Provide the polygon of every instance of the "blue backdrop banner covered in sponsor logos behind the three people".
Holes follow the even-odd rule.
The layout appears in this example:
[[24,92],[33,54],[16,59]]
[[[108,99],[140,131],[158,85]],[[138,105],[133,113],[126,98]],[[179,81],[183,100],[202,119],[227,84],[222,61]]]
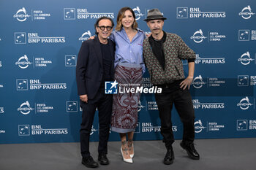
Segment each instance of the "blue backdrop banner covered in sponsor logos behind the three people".
[[[256,137],[256,1],[1,0],[0,143],[78,142],[81,122],[75,66],[97,18],[116,23],[131,7],[139,28],[159,8],[164,30],[195,50],[191,85],[196,139]],[[184,61],[187,74],[187,61]],[[143,86],[150,87],[148,72]],[[142,93],[135,140],[162,139],[154,95]],[[182,124],[172,112],[176,139]],[[91,141],[99,140],[98,115]],[[110,132],[110,141],[119,140]]]

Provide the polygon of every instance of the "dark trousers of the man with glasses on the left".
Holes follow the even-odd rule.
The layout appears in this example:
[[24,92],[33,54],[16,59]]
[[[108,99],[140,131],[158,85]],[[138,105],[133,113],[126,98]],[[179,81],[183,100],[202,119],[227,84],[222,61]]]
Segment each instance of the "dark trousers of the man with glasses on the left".
[[108,136],[110,131],[110,120],[112,114],[113,96],[105,94],[104,88],[99,88],[97,95],[88,100],[88,103],[80,101],[83,109],[82,123],[80,128],[80,150],[83,158],[89,157],[89,140],[91,126],[94,122],[96,109],[99,111],[99,154],[108,153]]

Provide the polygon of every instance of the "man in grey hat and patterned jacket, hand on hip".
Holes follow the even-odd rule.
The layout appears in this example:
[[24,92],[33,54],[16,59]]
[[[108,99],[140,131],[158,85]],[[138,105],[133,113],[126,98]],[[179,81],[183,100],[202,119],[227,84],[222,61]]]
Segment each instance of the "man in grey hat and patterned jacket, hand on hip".
[[[189,86],[192,83],[195,70],[195,52],[191,50],[176,34],[162,30],[164,26],[162,12],[159,9],[148,11],[146,22],[151,30],[151,36],[143,41],[143,57],[151,77],[151,83],[162,88],[162,93],[155,93],[159,117],[161,120],[161,134],[167,152],[165,164],[174,160],[172,144],[174,142],[171,109],[173,104],[183,123],[184,133],[181,147],[187,151],[189,158],[198,160],[199,154],[194,147],[195,113]],[[188,77],[185,78],[181,60],[187,60],[189,66]]]

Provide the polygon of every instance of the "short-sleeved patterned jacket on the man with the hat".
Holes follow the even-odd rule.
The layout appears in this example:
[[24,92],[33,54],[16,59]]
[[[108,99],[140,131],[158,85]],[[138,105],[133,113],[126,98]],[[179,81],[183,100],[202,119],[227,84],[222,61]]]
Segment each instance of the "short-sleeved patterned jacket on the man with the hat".
[[175,80],[184,79],[184,69],[181,59],[195,58],[195,52],[185,44],[180,36],[171,33],[166,34],[166,41],[163,44],[165,70],[162,69],[162,66],[154,55],[151,45],[148,42],[148,37],[143,41],[143,58],[153,85],[163,85]]

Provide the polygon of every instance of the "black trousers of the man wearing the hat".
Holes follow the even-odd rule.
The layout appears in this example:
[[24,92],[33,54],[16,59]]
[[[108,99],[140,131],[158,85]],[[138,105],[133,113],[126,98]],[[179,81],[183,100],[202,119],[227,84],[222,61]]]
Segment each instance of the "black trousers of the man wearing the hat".
[[189,144],[195,139],[195,112],[192,105],[192,98],[188,89],[179,88],[179,82],[170,85],[157,85],[162,88],[162,93],[156,93],[155,98],[159,109],[161,120],[161,134],[165,145],[173,144],[173,129],[171,121],[171,110],[173,104],[176,107],[181,122],[183,123],[182,142]]

